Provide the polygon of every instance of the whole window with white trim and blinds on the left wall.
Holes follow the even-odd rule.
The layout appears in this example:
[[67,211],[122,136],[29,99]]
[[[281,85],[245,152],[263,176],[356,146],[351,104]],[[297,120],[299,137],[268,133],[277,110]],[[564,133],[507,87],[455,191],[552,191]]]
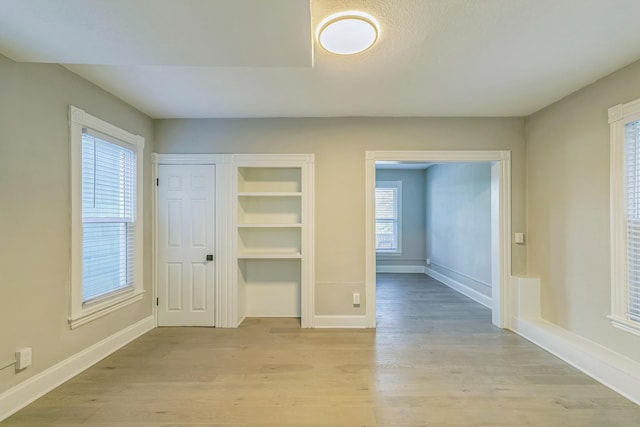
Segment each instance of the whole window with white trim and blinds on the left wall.
[[71,107],[72,328],[142,298],[142,150]]

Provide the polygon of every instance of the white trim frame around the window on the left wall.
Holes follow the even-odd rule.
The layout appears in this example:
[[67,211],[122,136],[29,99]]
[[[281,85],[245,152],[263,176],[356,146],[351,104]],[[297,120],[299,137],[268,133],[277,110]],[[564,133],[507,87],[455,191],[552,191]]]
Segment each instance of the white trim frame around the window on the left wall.
[[[140,301],[143,289],[143,150],[144,138],[134,135],[85,111],[69,106],[71,136],[71,304],[69,326],[74,329]],[[133,288],[82,302],[82,129],[89,128],[129,144],[136,152],[135,281]]]

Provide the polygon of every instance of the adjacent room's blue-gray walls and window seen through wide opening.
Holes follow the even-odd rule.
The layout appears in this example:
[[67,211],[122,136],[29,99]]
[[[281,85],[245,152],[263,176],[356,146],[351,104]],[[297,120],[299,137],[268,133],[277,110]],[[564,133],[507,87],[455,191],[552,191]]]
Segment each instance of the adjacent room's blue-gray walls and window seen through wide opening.
[[386,282],[403,280],[394,274],[427,274],[491,309],[500,258],[492,245],[500,219],[492,210],[498,195],[491,167],[376,162],[376,272],[387,273]]

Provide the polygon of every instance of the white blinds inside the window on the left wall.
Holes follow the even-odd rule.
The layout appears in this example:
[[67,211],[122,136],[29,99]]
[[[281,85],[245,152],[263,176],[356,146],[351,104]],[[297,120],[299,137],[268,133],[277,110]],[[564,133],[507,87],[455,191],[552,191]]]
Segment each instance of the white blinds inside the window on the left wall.
[[82,132],[82,302],[134,286],[136,152]]

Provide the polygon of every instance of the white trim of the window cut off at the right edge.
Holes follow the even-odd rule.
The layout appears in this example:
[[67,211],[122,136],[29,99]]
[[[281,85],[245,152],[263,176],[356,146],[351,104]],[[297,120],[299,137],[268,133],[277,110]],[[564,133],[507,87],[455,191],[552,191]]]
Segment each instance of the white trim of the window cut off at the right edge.
[[611,197],[611,314],[614,327],[640,335],[640,322],[627,314],[625,232],[625,126],[640,120],[640,99],[609,109],[610,125],[610,197]]

